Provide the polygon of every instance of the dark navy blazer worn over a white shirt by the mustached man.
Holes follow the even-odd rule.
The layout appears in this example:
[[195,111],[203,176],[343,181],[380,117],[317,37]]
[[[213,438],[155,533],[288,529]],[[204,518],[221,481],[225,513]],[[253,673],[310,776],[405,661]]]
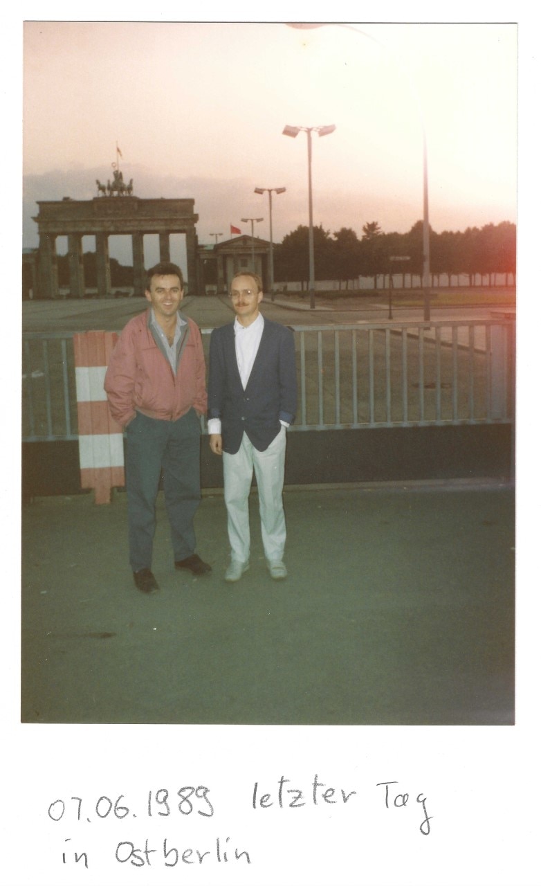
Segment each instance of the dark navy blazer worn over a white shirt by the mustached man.
[[263,452],[291,424],[297,409],[297,369],[293,333],[264,320],[258,353],[243,388],[236,363],[234,323],[213,330],[209,354],[208,417],[221,419],[221,445],[235,455],[246,431]]

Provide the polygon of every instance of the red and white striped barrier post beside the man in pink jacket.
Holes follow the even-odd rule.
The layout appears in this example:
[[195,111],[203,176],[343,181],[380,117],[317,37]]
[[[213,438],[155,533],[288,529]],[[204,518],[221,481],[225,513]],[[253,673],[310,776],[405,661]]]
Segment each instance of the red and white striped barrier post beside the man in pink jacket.
[[79,421],[81,486],[94,489],[96,504],[111,501],[112,486],[124,486],[124,444],[120,424],[109,412],[104,377],[116,332],[78,332],[73,336]]

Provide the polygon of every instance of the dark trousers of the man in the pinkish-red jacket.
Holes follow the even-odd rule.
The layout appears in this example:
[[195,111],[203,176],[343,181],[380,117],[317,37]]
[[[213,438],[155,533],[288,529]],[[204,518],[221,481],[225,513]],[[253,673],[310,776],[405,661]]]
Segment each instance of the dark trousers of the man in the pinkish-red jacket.
[[134,572],[151,569],[156,499],[163,471],[166,512],[174,560],[193,554],[193,521],[199,501],[201,425],[195,409],[176,422],[138,412],[126,430],[129,563]]

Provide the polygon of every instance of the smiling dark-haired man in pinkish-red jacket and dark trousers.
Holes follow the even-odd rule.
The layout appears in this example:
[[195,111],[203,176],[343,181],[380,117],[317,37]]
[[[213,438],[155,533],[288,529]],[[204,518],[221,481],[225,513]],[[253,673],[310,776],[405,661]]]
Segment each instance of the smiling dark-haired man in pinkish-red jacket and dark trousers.
[[195,553],[193,525],[201,500],[205,356],[197,324],[179,311],[183,295],[180,268],[151,268],[150,307],[122,330],[104,381],[112,417],[126,429],[129,562],[144,594],[158,591],[151,561],[162,472],[174,566],[194,575],[211,571]]

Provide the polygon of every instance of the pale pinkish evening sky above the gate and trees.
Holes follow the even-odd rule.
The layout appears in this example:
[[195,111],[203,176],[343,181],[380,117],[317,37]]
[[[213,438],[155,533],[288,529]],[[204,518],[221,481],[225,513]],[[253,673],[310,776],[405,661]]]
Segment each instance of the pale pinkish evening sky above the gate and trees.
[[[195,199],[200,244],[249,234],[243,217],[267,239],[254,188],[285,187],[280,242],[308,223],[307,135],[286,124],[336,126],[311,136],[313,222],[331,234],[421,219],[423,131],[433,229],[516,221],[516,89],[513,23],[27,20],[23,245],[35,201],[97,196],[117,145],[135,196]],[[113,238],[113,257],[126,249]]]

